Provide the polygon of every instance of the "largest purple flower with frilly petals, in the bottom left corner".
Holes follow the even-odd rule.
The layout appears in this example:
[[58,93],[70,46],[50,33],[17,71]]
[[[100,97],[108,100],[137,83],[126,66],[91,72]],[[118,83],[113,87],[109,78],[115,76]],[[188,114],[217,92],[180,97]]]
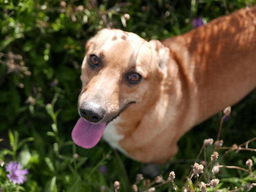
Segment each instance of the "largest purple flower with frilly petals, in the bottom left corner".
[[10,161],[7,163],[5,170],[9,172],[7,177],[14,184],[24,183],[24,181],[26,181],[25,175],[29,173],[27,169],[21,170],[20,163],[17,163],[16,161]]

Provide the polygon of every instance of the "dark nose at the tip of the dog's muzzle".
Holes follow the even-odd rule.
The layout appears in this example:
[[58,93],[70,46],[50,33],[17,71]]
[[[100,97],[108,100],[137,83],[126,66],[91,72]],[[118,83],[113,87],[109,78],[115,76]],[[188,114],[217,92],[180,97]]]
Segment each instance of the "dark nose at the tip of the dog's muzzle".
[[92,123],[98,123],[106,114],[106,111],[99,104],[93,102],[83,102],[79,111],[83,118]]

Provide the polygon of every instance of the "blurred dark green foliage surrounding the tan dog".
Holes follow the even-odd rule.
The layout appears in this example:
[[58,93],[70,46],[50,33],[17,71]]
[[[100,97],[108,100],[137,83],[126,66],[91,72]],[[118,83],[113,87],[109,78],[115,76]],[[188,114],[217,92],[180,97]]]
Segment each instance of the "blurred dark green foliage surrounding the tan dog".
[[[147,40],[161,40],[193,29],[195,18],[209,22],[254,4],[255,0],[0,0],[0,138],[4,138],[0,158],[23,159],[29,176],[20,190],[113,191],[112,183],[118,180],[121,191],[131,191],[136,174],[145,166],[103,141],[90,150],[71,141],[79,118],[77,98],[85,42],[98,30],[118,28]],[[124,14],[130,18],[125,20]],[[179,142],[178,154],[160,172],[168,175],[174,170],[177,184],[183,186],[203,140],[216,139],[221,116],[220,112],[187,133]],[[19,141],[29,137],[34,141],[23,142],[13,151],[19,142],[9,141],[12,134]],[[232,108],[221,138],[225,146],[231,146],[254,136],[256,91]],[[250,147],[256,148],[256,144]],[[221,161],[244,166],[253,155],[234,152]],[[231,176],[243,175],[223,171],[220,179]],[[0,184],[5,177],[2,170]]]

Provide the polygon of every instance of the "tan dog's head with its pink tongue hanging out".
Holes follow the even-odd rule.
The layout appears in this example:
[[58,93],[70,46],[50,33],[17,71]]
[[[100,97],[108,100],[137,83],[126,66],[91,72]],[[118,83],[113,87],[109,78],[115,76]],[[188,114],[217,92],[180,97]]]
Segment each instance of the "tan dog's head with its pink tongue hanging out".
[[78,102],[82,118],[72,138],[90,148],[99,142],[106,124],[130,105],[154,99],[166,74],[169,49],[118,29],[99,31],[85,47]]

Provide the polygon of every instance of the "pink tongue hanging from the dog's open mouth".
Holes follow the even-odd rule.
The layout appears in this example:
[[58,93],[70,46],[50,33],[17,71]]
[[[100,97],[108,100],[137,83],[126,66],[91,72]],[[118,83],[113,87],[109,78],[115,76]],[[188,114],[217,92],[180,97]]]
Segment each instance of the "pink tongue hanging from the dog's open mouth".
[[106,123],[92,124],[80,117],[72,131],[72,139],[80,147],[92,148],[101,139],[105,127]]

